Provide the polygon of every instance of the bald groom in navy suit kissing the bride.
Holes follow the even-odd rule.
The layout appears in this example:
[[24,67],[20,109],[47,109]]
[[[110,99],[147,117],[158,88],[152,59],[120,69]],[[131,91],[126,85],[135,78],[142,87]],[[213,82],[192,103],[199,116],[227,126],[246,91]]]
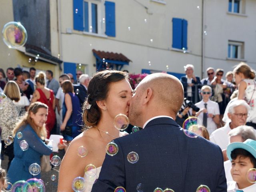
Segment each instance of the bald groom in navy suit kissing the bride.
[[[174,121],[183,94],[181,82],[169,74],[151,74],[140,82],[130,101],[129,119],[143,130],[114,140],[119,151],[106,154],[92,192],[114,192],[116,187],[134,192],[137,186],[144,192],[195,192],[201,184],[212,192],[226,192],[220,148],[202,137],[186,136]],[[130,152],[138,154],[138,162],[127,160]]]

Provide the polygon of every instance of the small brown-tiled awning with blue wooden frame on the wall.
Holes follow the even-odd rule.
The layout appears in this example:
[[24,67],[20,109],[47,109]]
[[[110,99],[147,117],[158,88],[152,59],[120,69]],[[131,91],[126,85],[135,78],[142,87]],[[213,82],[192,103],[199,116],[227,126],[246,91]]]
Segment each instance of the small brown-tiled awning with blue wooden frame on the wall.
[[122,53],[96,51],[95,49],[93,49],[92,52],[96,58],[97,70],[114,68],[114,65],[116,66],[116,70],[121,70],[124,65],[129,65],[131,61]]

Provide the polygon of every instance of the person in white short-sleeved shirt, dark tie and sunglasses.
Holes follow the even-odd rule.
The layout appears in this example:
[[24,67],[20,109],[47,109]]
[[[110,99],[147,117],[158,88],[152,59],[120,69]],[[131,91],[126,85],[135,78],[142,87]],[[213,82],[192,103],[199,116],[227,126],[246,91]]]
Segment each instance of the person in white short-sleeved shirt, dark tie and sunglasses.
[[218,103],[211,101],[212,88],[205,85],[201,88],[202,101],[195,105],[200,108],[196,116],[202,121],[207,128],[209,135],[217,129],[217,124],[220,122],[220,109]]

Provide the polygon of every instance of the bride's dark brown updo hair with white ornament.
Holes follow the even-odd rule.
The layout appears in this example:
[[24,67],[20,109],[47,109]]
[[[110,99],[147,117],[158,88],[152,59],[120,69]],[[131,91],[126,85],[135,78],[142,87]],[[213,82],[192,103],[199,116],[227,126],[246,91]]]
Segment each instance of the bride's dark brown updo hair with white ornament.
[[94,74],[88,85],[88,98],[83,106],[83,120],[86,128],[98,124],[101,110],[96,101],[105,100],[108,97],[110,84],[123,79],[128,80],[128,74],[116,70],[104,70]]

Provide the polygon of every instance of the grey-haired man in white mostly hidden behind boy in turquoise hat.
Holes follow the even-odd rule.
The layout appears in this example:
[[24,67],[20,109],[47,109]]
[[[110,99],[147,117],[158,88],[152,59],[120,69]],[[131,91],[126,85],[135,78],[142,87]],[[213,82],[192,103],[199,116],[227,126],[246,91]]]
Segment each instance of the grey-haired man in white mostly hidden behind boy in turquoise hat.
[[[233,142],[244,142],[247,139],[256,140],[256,134],[254,128],[246,125],[238,126],[237,128],[232,129],[228,133],[229,137],[229,144]],[[230,173],[231,169],[231,161],[228,160],[226,150],[222,150],[223,156],[224,156],[224,168],[225,168],[225,174],[227,182],[232,181],[232,176]]]

